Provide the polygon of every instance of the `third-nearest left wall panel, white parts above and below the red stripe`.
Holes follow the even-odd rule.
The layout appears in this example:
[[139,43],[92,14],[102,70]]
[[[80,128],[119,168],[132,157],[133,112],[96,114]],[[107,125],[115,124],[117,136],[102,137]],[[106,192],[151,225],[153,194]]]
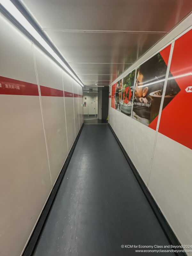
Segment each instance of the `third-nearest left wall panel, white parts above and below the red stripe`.
[[[63,88],[65,92],[73,94],[72,79],[65,72],[63,72]],[[65,97],[65,114],[67,123],[68,150],[70,150],[76,137],[73,97]]]

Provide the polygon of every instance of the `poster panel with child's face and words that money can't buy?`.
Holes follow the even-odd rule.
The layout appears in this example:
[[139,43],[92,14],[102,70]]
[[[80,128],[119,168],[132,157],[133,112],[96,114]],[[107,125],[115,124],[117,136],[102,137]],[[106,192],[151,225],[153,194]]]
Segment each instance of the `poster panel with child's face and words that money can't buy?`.
[[[132,118],[156,130],[171,45],[137,68]],[[173,87],[180,89],[176,83]],[[170,99],[171,100],[171,99]],[[168,103],[168,102],[167,102]]]

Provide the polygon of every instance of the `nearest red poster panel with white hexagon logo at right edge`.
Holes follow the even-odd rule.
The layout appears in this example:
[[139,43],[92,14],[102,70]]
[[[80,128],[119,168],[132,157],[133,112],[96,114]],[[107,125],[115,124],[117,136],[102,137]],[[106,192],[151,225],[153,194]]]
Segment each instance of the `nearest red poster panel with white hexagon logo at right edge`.
[[180,90],[162,110],[158,132],[192,149],[192,29],[175,41],[170,73],[165,95],[176,93],[172,80]]

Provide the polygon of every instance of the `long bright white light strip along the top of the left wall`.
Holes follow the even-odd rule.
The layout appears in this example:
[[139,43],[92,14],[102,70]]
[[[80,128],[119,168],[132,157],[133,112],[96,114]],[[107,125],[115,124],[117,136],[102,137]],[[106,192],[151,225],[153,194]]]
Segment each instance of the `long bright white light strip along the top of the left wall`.
[[[18,1],[17,1],[18,2]],[[10,0],[0,0],[0,11],[12,21],[24,34],[26,34],[35,44],[41,46],[40,48],[51,55],[52,59],[57,62],[77,83],[84,86],[81,80],[74,74],[74,71],[64,63],[52,47],[45,41],[45,39],[38,33],[38,31],[31,25],[26,17],[17,9],[15,4]]]

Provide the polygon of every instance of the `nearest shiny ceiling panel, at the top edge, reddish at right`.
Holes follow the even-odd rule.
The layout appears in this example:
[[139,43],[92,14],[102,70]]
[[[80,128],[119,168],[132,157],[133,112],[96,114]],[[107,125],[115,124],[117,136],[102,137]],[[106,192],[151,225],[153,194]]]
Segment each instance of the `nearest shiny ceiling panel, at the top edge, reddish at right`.
[[23,0],[42,28],[169,31],[189,0]]

